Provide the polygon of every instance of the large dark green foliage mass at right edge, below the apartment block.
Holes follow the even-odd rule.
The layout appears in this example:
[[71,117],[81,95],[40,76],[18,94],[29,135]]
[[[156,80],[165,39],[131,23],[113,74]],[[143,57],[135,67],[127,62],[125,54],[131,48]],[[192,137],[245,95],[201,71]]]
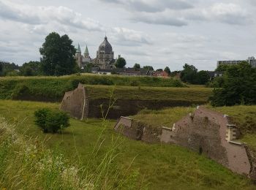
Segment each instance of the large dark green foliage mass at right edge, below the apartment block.
[[247,62],[229,66],[222,88],[214,89],[213,106],[256,104],[256,69]]

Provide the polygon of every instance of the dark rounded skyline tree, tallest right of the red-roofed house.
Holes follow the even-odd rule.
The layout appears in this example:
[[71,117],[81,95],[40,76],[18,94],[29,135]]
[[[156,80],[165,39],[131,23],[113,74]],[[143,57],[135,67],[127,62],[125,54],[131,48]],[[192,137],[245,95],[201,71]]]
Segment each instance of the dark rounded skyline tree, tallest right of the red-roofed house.
[[181,71],[181,80],[185,83],[196,83],[197,69],[193,65],[185,64]]

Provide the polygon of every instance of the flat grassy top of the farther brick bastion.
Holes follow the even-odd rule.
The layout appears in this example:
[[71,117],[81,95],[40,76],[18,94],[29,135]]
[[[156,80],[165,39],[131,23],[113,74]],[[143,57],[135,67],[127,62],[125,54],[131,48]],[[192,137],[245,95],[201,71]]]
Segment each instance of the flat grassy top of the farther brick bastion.
[[86,86],[89,99],[109,98],[113,92],[116,99],[140,100],[183,100],[187,102],[207,102],[212,88],[167,88],[132,86]]

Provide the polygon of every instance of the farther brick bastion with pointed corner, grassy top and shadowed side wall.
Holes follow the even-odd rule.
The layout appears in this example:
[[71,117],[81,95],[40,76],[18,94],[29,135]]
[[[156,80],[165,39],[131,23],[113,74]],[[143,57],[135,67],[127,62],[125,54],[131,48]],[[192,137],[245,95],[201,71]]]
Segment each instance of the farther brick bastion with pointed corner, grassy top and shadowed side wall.
[[116,119],[121,115],[135,115],[144,109],[187,107],[192,104],[205,104],[207,100],[204,92],[195,91],[194,88],[140,88],[79,84],[74,91],[65,93],[60,109],[78,119],[102,118],[102,110],[105,115],[110,102],[111,104],[114,102],[108,111],[108,118]]

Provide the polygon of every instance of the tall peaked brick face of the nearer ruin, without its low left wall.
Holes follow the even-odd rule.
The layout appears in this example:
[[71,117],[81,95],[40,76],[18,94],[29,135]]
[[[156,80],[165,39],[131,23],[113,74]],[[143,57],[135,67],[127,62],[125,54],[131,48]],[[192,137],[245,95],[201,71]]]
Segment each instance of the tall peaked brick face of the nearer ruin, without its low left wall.
[[229,122],[227,116],[200,107],[194,114],[175,123],[169,132],[164,129],[161,140],[205,153],[233,172],[249,175],[252,163],[246,147],[239,142],[226,140]]

